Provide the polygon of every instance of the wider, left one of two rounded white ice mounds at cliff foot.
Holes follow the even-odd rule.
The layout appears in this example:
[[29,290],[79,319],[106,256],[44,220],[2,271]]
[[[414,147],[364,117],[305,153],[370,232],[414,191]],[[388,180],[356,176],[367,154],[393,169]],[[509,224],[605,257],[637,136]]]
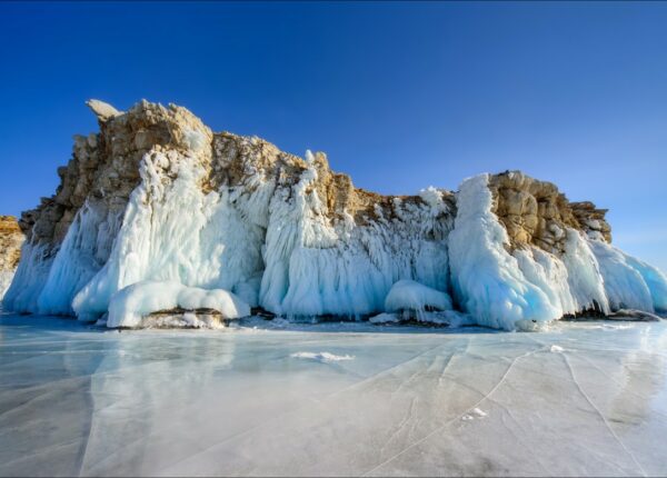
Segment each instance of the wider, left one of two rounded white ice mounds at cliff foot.
[[175,281],[146,280],[113,295],[107,327],[139,327],[149,313],[175,308],[213,309],[226,319],[250,315],[250,306],[222,289],[205,290]]

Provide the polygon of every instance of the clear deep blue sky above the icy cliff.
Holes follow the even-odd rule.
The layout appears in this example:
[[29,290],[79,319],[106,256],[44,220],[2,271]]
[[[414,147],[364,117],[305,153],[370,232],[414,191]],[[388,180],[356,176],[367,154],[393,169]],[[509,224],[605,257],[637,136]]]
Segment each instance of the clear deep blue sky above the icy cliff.
[[0,2],[0,213],[141,98],[414,193],[521,169],[667,270],[665,2]]

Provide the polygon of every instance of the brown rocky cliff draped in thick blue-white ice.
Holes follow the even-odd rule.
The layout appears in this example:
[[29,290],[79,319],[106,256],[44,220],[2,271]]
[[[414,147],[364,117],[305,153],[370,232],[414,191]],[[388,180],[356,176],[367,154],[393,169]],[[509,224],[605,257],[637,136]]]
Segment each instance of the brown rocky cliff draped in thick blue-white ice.
[[182,323],[201,308],[375,322],[412,310],[506,330],[667,310],[667,278],[611,246],[604,210],[520,172],[380,196],[323,153],[213,133],[185,108],[89,106],[100,132],[76,137],[57,193],[21,218],[8,309],[109,327],[168,309]]

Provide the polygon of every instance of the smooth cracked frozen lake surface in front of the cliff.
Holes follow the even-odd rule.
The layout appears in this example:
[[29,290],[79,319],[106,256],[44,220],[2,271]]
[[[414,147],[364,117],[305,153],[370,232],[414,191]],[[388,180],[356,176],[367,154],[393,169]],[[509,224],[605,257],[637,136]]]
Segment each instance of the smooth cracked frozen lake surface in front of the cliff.
[[118,332],[4,315],[0,475],[666,475],[666,365],[664,321]]

